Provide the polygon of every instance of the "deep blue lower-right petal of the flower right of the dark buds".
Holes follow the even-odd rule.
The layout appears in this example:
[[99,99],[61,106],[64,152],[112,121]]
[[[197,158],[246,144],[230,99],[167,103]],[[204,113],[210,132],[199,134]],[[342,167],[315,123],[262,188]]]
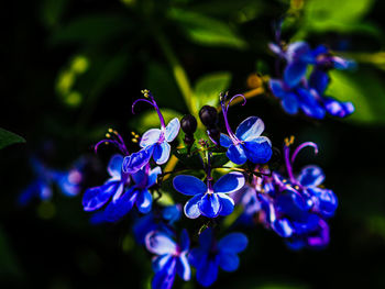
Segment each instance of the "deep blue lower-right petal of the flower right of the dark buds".
[[243,147],[248,159],[254,164],[266,164],[273,154],[272,145],[267,137],[244,142]]

